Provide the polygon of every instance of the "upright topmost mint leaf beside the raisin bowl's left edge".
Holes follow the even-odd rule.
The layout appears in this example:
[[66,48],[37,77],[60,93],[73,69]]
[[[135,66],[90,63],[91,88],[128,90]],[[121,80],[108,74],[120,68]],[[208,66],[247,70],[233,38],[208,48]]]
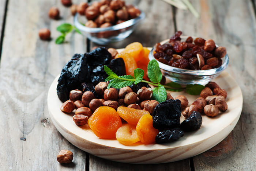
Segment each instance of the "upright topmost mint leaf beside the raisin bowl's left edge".
[[157,60],[152,60],[147,65],[148,78],[153,83],[159,83],[162,80],[162,73]]

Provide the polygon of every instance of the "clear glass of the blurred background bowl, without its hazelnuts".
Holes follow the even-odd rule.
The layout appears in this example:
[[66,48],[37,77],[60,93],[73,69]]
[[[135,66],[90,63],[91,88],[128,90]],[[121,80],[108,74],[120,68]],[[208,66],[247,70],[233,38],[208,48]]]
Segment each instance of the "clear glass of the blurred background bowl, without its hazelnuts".
[[80,32],[91,41],[104,45],[127,38],[136,28],[138,23],[145,18],[145,13],[142,10],[140,11],[141,13],[137,18],[106,28],[85,27],[84,24],[81,23],[86,23],[86,17],[76,13],[74,17],[74,24],[76,28],[78,28]]

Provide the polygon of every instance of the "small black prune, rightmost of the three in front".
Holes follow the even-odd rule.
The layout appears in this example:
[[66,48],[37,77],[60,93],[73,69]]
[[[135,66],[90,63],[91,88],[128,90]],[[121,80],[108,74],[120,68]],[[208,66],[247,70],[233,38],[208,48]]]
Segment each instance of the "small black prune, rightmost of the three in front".
[[194,111],[180,124],[180,128],[184,131],[196,131],[201,127],[202,121],[201,113]]

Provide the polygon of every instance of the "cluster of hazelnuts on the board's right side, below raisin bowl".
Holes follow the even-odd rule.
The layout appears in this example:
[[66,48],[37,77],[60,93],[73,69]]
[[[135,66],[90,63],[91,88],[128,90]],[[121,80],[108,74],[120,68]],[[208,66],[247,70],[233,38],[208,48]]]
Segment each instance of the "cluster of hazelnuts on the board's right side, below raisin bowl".
[[226,97],[226,90],[221,89],[215,82],[209,82],[206,88],[200,93],[200,97],[198,97],[191,106],[185,108],[182,114],[187,118],[193,111],[196,111],[210,117],[217,116],[219,110],[221,112],[227,110]]

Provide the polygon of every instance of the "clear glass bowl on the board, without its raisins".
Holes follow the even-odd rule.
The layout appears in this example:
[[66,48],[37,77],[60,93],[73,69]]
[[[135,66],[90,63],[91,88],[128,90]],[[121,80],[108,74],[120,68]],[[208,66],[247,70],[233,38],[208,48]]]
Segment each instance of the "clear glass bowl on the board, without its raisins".
[[[181,40],[186,40],[188,36],[181,36]],[[195,39],[196,37],[193,37]],[[160,44],[168,43],[169,39],[162,41]],[[216,44],[216,47],[218,45]],[[154,51],[155,46],[150,51],[148,58],[149,60],[153,60],[154,58]],[[188,85],[188,84],[201,84],[205,85],[212,79],[218,77],[218,75],[226,69],[227,65],[229,64],[229,56],[226,54],[224,58],[222,58],[222,65],[218,68],[210,69],[210,70],[187,70],[187,69],[180,69],[176,67],[172,67],[169,65],[165,65],[159,61],[159,67],[162,70],[163,75],[170,79],[172,82],[179,83],[181,85]]]

